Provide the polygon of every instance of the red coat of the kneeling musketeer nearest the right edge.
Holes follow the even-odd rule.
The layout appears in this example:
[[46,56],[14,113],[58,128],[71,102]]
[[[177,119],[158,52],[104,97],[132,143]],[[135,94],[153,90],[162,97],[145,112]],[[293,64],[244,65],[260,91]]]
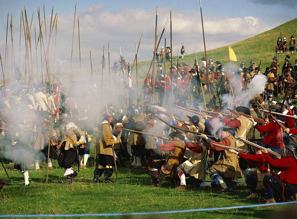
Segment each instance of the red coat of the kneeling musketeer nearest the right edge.
[[280,170],[282,171],[278,175],[278,178],[280,180],[284,180],[292,184],[297,184],[297,160],[295,159],[293,154],[291,156],[283,157],[277,160],[272,159],[269,154],[266,154],[265,158],[269,165],[280,167]]

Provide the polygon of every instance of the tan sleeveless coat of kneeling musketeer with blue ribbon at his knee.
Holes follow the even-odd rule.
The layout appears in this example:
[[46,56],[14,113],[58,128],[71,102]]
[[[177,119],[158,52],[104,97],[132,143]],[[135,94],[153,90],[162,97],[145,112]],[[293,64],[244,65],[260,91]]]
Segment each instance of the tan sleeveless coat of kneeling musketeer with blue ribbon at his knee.
[[[233,136],[227,137],[230,140],[230,147],[236,148],[236,140]],[[221,158],[214,163],[209,169],[217,170],[219,174],[226,178],[241,178],[238,157],[236,154],[231,154],[229,150],[222,151]]]

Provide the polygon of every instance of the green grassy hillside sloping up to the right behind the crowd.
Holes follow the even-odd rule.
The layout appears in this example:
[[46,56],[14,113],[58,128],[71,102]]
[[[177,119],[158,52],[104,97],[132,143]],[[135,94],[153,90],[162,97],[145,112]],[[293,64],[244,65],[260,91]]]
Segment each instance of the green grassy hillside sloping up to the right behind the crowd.
[[[230,44],[230,47],[234,50],[237,62],[231,61],[231,63],[235,63],[238,67],[240,63],[244,62],[246,65],[245,67],[249,67],[249,62],[253,60],[256,65],[259,65],[260,61],[262,66],[262,72],[265,71],[265,68],[268,67],[272,62],[272,57],[275,55],[275,46],[278,37],[280,37],[280,33],[282,33],[282,38],[286,37],[287,39],[287,46],[290,41],[290,36],[295,36],[296,33],[296,23],[297,18],[294,20],[291,20],[287,23],[284,23],[276,28],[273,28],[269,31],[266,31],[264,33],[260,33],[256,36],[253,36],[251,38],[239,41],[234,44]],[[295,36],[296,37],[296,36]],[[287,47],[289,49],[289,47]],[[192,67],[192,63],[195,60],[195,55],[197,56],[198,62],[200,58],[205,57],[204,51],[192,53],[189,55],[185,55],[184,59],[179,59],[179,62],[186,62],[190,67]],[[224,65],[228,65],[229,63],[229,54],[228,54],[228,45],[223,46],[217,49],[211,49],[208,50],[207,58],[212,58],[214,62],[219,60]],[[293,54],[287,54],[291,56],[290,62],[292,64],[295,64],[295,59],[297,58],[297,53]],[[285,54],[279,53],[277,54],[278,61],[280,63],[280,67],[284,63]],[[139,62],[139,66],[146,66],[150,63],[150,61],[143,61]],[[173,57],[173,63],[177,62],[177,56]],[[201,61],[202,62],[202,61]],[[201,63],[200,62],[200,63]],[[167,64],[167,63],[166,63]],[[170,64],[168,64],[169,66]],[[168,71],[169,68],[166,67],[166,70]]]

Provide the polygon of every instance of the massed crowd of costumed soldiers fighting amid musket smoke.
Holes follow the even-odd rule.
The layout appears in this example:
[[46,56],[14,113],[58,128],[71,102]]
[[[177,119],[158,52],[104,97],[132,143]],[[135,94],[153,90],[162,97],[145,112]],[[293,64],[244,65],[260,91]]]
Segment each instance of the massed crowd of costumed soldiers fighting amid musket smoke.
[[[149,187],[161,186],[159,178],[164,173],[165,179],[177,185],[177,190],[187,189],[187,185],[217,187],[219,194],[249,186],[247,199],[257,198],[266,191],[266,203],[296,201],[297,109],[293,101],[297,98],[294,87],[297,60],[293,67],[289,58],[285,58],[280,71],[274,57],[264,73],[259,73],[253,61],[249,68],[241,63],[236,72],[231,72],[231,68],[225,71],[219,61],[214,63],[209,59],[206,65],[202,58],[201,67],[195,60],[189,71],[189,65],[184,62],[183,69],[181,65],[170,68],[168,77],[159,64],[156,78],[153,80],[149,75],[144,81],[144,103],[132,104],[127,112],[121,108],[115,111],[111,104],[106,104],[97,127],[88,110],[78,106],[73,96],[74,81],[68,95],[64,94],[66,89],[60,81],[34,89],[20,85],[10,96],[3,89],[1,136],[6,144],[1,152],[5,154],[5,147],[10,148],[10,156],[5,158],[23,176],[21,186],[30,185],[29,166],[40,171],[40,164],[48,161],[48,169],[53,170],[55,153],[66,177],[64,184],[71,184],[78,175],[74,163],[78,162],[81,169],[87,168],[90,143],[96,132],[94,183],[115,183],[111,177],[116,164],[125,167],[132,155],[132,163],[127,167],[146,167],[152,180]],[[124,59],[121,62],[125,63]],[[236,101],[217,106],[216,101],[210,100],[205,109],[202,92],[208,89],[213,92],[214,87],[220,96],[230,92],[233,95],[233,91],[248,92],[249,83],[258,74],[266,76],[266,86],[264,92],[247,100],[248,107],[237,106]],[[204,79],[202,92],[198,90],[197,77],[200,81]],[[154,102],[152,86],[160,90],[159,102],[150,105]],[[169,103],[171,89],[177,100],[169,114],[162,106],[165,100]],[[283,98],[279,100],[281,93]],[[195,100],[191,105],[187,105],[188,96]],[[32,156],[35,163],[31,162]],[[211,182],[205,181],[207,171]],[[239,181],[242,175],[244,180]],[[1,188],[5,184],[0,180]]]

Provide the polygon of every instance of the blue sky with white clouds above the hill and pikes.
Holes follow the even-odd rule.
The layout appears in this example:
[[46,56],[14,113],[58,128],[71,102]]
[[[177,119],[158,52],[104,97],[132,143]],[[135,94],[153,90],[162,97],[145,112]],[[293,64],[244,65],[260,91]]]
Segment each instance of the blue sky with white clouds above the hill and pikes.
[[[75,1],[70,0],[47,0],[44,3],[37,0],[0,0],[0,52],[2,61],[4,62],[5,56],[7,14],[9,13],[9,23],[12,15],[15,61],[18,63],[21,9],[24,10],[26,7],[29,23],[34,12],[31,29],[31,39],[32,44],[34,44],[34,25],[37,36],[39,34],[37,8],[39,7],[42,12],[41,20],[44,20],[43,4],[45,5],[47,33],[49,33],[52,7],[54,15],[55,13],[58,14],[55,62],[69,59],[62,64],[62,70],[69,71],[75,11]],[[100,67],[103,46],[105,46],[105,57],[108,57],[108,42],[110,44],[111,65],[115,60],[119,60],[119,46],[121,46],[121,52],[126,61],[132,63],[135,57],[135,44],[138,44],[142,33],[138,60],[151,59],[153,55],[151,51],[154,50],[157,6],[159,35],[169,18],[166,26],[167,45],[170,44],[170,10],[172,11],[172,51],[174,55],[181,48],[181,43],[184,43],[187,54],[203,51],[198,0],[81,0],[77,1],[76,7],[72,69],[79,71],[77,18],[79,18],[80,26],[82,70],[89,71],[90,69],[90,50],[93,68]],[[206,49],[232,44],[277,27],[296,18],[296,9],[296,0],[202,0]],[[44,24],[42,33],[45,37]],[[23,63],[24,58],[22,56],[25,53],[23,30],[21,34],[20,63]],[[164,46],[164,39],[161,42]],[[11,60],[10,26],[8,47],[10,54],[8,59]],[[53,50],[51,54],[51,61],[53,61]],[[22,64],[20,65],[22,67]]]

